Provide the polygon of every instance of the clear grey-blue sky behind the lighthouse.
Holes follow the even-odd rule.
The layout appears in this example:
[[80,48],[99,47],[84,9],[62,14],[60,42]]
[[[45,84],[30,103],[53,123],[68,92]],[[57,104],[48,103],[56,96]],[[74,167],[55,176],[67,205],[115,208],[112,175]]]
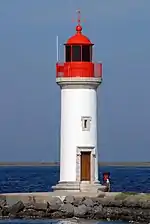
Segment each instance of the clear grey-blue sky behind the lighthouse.
[[77,9],[103,62],[99,160],[150,161],[149,0],[0,1],[0,161],[59,160],[56,35],[74,34]]

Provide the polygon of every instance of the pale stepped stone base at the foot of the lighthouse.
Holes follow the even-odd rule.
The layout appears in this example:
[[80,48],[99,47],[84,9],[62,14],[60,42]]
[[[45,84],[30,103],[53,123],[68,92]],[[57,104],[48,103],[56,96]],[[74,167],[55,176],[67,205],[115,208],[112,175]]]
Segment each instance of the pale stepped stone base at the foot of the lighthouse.
[[106,186],[99,182],[90,183],[89,181],[82,182],[59,182],[52,186],[53,191],[70,191],[70,192],[105,192]]

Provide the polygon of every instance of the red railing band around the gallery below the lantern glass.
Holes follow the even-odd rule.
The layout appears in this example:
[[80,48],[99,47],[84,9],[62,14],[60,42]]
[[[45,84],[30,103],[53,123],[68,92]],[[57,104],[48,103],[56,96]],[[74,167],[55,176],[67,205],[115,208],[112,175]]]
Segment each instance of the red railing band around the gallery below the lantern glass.
[[102,63],[70,62],[56,64],[56,77],[102,77]]

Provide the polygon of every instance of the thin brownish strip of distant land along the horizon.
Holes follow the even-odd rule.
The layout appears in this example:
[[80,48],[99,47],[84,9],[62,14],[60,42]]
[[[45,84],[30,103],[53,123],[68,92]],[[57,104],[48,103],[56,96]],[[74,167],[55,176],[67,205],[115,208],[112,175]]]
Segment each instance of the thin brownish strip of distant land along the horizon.
[[[59,162],[0,162],[0,166],[59,166]],[[99,166],[150,167],[150,162],[99,162]]]

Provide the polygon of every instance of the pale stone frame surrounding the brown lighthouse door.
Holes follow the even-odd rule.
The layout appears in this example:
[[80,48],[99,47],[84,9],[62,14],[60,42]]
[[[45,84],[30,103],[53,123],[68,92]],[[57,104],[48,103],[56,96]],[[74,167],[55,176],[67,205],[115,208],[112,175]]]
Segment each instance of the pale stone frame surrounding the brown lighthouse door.
[[[81,152],[90,152],[91,158],[90,158],[90,181],[81,181]],[[76,181],[78,182],[94,182],[95,181],[95,157],[96,157],[96,152],[95,152],[95,147],[90,146],[90,147],[83,147],[79,146],[77,147],[77,152],[76,152]]]

